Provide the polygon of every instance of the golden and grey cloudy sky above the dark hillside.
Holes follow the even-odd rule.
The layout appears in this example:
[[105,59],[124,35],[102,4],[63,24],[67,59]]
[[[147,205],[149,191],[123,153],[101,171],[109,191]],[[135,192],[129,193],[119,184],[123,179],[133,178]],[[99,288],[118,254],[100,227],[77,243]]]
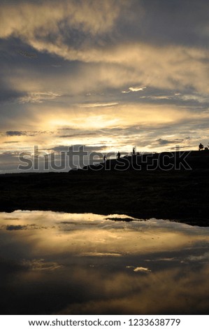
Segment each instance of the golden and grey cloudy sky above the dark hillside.
[[20,153],[208,146],[207,0],[0,4],[0,173]]

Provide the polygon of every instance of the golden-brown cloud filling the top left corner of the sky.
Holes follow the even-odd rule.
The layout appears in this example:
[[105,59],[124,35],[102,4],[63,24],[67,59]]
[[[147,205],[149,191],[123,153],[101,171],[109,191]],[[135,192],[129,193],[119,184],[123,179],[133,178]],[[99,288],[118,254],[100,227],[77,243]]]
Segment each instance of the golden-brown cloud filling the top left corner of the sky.
[[[19,3],[16,6],[8,4],[2,6],[1,12],[1,37],[8,38],[15,35],[30,41],[56,35],[72,29],[71,35],[76,31],[94,36],[95,34],[110,31],[120,13],[121,1],[45,1],[45,3]],[[45,15],[41,15],[45,13]],[[31,17],[32,15],[32,17]],[[64,34],[64,36],[71,36]],[[59,43],[61,40],[57,40]]]

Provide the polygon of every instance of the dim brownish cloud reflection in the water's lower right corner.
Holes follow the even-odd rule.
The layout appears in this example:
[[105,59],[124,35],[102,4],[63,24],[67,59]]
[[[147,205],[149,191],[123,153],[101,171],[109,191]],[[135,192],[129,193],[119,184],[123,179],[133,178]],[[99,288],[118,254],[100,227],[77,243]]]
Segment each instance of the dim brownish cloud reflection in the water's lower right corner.
[[[102,276],[97,272],[89,282],[94,281],[94,290],[98,290],[102,297],[98,299],[97,295],[96,298],[92,295],[88,302],[71,302],[59,314],[180,314],[182,309],[184,314],[191,314],[191,309],[205,314],[208,308],[208,267],[199,269],[198,274],[194,271],[188,275],[188,271],[188,268],[176,267],[149,272],[140,279],[133,274],[115,274],[111,277],[112,282],[107,279],[107,274]],[[206,285],[199,283],[200,275]],[[197,299],[203,302],[196,302]],[[139,302],[141,300],[143,302]]]

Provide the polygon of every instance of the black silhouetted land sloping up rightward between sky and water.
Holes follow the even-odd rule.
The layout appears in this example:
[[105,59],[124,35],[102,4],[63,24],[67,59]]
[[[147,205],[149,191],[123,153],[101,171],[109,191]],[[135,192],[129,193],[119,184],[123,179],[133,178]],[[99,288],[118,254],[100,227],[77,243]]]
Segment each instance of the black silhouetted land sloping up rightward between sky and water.
[[209,152],[192,151],[185,160],[192,169],[182,155],[161,153],[111,160],[106,162],[109,170],[2,174],[0,211],[128,214],[208,226]]

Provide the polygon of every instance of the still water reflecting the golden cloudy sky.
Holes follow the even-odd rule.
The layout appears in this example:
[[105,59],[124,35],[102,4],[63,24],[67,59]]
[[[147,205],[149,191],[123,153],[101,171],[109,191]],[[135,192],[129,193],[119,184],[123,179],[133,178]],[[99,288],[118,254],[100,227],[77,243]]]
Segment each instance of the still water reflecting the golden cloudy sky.
[[208,314],[209,228],[0,214],[1,314]]

